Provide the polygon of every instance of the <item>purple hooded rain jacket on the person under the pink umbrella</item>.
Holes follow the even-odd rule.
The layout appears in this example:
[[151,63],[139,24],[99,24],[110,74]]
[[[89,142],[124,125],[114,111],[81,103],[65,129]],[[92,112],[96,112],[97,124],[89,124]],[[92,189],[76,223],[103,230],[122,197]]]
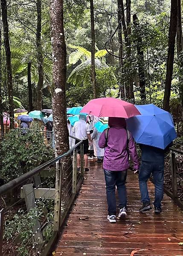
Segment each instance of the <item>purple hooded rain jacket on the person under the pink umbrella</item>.
[[[109,131],[106,146],[105,131],[100,136],[99,147],[105,148],[103,168],[108,171],[125,171],[129,167],[129,154],[134,169],[139,169],[139,161],[134,139],[130,134],[127,150],[126,121],[120,117],[109,117]],[[129,154],[128,154],[129,153]]]

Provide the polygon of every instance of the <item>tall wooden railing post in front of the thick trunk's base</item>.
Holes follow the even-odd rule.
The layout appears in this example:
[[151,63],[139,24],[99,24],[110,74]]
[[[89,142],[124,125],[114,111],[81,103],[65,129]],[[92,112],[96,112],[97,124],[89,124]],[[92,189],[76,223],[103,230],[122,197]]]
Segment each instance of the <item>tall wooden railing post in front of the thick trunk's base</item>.
[[56,163],[54,230],[60,233],[63,163]]

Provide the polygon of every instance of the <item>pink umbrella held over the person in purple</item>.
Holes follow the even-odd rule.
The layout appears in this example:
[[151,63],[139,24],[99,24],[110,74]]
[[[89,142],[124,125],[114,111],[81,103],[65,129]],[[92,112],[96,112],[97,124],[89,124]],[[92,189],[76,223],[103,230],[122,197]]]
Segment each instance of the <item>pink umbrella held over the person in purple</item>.
[[130,118],[132,116],[140,115],[140,112],[133,104],[114,98],[92,99],[80,112],[98,117],[108,116]]

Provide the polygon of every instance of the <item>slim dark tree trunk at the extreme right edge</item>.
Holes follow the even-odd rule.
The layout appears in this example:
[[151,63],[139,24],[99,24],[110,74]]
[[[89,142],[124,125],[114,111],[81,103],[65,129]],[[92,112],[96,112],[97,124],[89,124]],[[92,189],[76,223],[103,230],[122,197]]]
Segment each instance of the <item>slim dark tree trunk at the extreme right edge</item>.
[[[179,60],[180,52],[183,50],[183,33],[182,33],[182,19],[181,19],[181,0],[177,0],[177,58]],[[179,77],[179,94],[180,102],[183,106],[183,84]]]

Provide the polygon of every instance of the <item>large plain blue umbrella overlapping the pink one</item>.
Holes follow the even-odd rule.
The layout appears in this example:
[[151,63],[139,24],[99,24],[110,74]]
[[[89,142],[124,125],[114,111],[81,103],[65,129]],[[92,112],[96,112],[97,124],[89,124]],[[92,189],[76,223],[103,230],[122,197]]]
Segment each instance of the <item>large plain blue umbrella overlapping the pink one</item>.
[[165,149],[177,137],[171,114],[153,104],[136,105],[136,108],[141,115],[126,119],[134,140]]

